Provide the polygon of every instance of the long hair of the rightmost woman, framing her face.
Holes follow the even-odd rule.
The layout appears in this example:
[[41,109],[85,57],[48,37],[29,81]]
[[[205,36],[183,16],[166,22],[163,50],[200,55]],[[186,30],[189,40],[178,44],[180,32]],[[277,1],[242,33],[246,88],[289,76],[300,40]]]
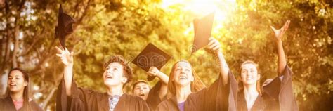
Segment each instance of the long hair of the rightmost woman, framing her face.
[[[254,63],[252,60],[246,60],[242,63],[242,65],[240,65],[240,70],[242,71],[242,66],[246,65],[246,64],[252,64],[254,66],[256,66],[256,70],[259,73],[259,69],[258,69],[258,65],[256,63]],[[239,82],[238,82],[238,86],[239,86],[239,90],[238,91],[243,91],[244,90],[244,83],[242,82],[241,76],[239,77]],[[258,91],[258,93],[261,95],[261,86],[260,86],[260,79],[256,80],[256,91]]]

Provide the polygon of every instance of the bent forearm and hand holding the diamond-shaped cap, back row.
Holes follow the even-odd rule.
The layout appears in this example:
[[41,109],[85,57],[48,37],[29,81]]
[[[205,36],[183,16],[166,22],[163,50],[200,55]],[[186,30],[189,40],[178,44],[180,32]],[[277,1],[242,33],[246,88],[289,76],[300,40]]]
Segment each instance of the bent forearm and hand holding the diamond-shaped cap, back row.
[[161,89],[159,89],[159,98],[160,99],[164,98],[164,96],[166,96],[166,93],[168,91],[169,77],[163,72],[160,72],[157,69],[157,67],[150,67],[147,73],[159,78],[159,80],[162,81]]

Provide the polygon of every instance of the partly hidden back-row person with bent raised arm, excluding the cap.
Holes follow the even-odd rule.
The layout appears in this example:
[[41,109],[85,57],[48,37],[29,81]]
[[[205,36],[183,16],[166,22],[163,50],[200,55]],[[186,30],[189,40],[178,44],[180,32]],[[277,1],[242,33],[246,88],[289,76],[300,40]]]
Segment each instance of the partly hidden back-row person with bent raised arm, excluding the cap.
[[136,81],[133,84],[133,95],[143,98],[151,109],[156,109],[157,105],[166,99],[169,77],[154,66],[150,67],[147,74],[159,78],[159,81],[152,87],[152,89],[148,86],[147,81]]

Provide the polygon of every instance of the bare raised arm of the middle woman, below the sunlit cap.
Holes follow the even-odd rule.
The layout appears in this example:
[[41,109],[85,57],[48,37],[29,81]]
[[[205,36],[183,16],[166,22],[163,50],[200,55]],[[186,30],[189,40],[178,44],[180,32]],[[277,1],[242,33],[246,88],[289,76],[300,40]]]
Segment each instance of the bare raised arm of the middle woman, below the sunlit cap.
[[221,70],[221,76],[223,77],[223,85],[228,84],[228,72],[229,72],[229,67],[226,62],[226,59],[224,59],[223,53],[221,51],[221,44],[213,37],[209,38],[209,48],[213,50],[217,55],[218,55],[218,61],[220,64],[220,70]]

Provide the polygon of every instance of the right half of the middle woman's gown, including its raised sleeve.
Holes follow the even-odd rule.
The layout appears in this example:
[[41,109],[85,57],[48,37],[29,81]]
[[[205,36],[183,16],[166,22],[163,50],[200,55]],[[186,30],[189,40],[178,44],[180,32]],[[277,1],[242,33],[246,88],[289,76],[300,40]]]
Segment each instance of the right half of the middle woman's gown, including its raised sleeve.
[[191,93],[185,102],[185,110],[235,110],[237,82],[231,72],[228,75],[228,84],[223,84],[220,74],[211,86]]

